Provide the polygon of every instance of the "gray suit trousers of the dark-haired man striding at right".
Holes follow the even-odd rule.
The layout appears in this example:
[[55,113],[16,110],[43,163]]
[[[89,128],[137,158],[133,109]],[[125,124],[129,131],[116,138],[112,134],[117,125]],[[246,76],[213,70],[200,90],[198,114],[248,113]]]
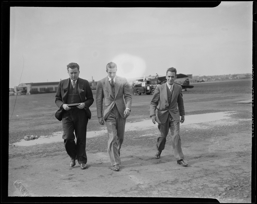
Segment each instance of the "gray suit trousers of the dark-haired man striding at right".
[[158,128],[160,130],[160,135],[157,139],[157,150],[162,151],[164,150],[165,143],[166,143],[166,137],[169,133],[171,133],[171,139],[172,139],[172,147],[173,152],[176,160],[184,159],[184,154],[181,149],[181,139],[179,136],[179,122],[177,123],[170,115],[164,124],[158,123]]

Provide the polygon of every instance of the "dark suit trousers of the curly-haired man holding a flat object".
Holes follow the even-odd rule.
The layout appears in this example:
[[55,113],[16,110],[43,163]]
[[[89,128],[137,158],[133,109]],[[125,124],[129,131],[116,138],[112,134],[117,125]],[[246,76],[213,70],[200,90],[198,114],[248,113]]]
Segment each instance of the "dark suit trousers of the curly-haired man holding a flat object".
[[[87,163],[86,154],[86,135],[87,135],[88,117],[85,110],[70,110],[63,111],[62,114],[62,128],[64,146],[68,155],[75,159],[77,156],[78,163]],[[77,142],[75,143],[75,135]]]

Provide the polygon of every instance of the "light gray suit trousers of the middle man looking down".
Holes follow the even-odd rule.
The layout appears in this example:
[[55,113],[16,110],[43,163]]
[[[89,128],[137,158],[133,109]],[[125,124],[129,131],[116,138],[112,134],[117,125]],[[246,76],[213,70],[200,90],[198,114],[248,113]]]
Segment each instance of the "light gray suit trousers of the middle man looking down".
[[121,149],[123,143],[126,118],[121,117],[117,106],[114,105],[105,123],[108,131],[108,154],[111,165],[121,164],[118,150]]

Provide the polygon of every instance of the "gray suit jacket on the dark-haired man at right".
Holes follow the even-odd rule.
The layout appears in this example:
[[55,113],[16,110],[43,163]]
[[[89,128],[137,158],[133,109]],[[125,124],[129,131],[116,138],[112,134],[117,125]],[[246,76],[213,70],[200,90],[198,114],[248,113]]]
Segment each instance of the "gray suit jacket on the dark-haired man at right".
[[[159,104],[159,107],[157,108]],[[156,115],[155,110],[157,109],[157,122],[160,124],[166,123],[169,113],[172,118],[178,123],[180,117],[185,115],[182,87],[178,84],[174,84],[173,95],[171,103],[169,105],[167,95],[167,84],[159,85],[155,88],[153,98],[150,104],[150,116]]]

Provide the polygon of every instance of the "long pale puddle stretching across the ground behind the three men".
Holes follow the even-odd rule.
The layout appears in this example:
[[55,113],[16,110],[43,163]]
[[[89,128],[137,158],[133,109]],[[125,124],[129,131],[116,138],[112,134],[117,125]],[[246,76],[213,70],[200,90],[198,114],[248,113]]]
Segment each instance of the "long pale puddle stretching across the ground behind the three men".
[[[230,119],[230,115],[234,112],[218,112],[218,113],[205,113],[205,114],[195,114],[195,115],[186,115],[185,116],[185,122],[183,124],[180,124],[181,127],[183,125],[188,124],[197,124],[192,126],[192,128],[200,129],[206,127],[206,125],[199,125],[199,123],[222,123],[223,125],[232,123],[231,121],[226,121],[227,119]],[[144,120],[141,122],[132,122],[132,123],[126,123],[125,125],[125,132],[126,131],[135,131],[135,130],[144,130],[144,129],[152,129],[157,128],[158,123],[153,124],[152,120]],[[203,126],[203,127],[202,127]],[[106,126],[101,131],[88,131],[87,132],[87,138],[105,135],[107,134]],[[51,143],[51,142],[63,142],[62,139],[62,132],[56,132],[53,133],[53,135],[48,136],[40,136],[36,140],[21,140],[20,142],[13,143],[11,145],[17,145],[17,146],[30,146],[35,144],[45,144],[45,143]]]

